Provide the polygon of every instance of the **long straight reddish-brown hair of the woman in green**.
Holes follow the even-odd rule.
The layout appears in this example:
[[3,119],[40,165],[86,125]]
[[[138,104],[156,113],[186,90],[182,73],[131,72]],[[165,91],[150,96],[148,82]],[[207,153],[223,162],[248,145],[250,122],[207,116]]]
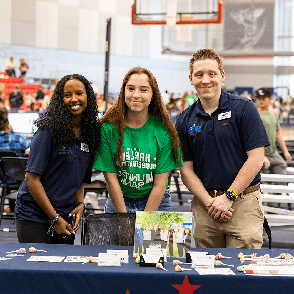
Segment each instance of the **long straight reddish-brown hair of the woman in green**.
[[[133,74],[146,74],[148,76],[149,84],[152,88],[152,100],[148,106],[148,112],[153,114],[153,117],[160,118],[171,137],[172,149],[173,149],[173,159],[174,161],[180,165],[179,161],[179,151],[178,148],[180,145],[180,140],[178,137],[178,133],[171,122],[168,111],[163,103],[157,82],[153,74],[151,74],[148,69],[141,67],[134,67],[129,70],[126,76],[123,79],[123,83],[121,85],[121,91],[119,92],[119,96],[117,101],[106,111],[106,113],[100,119],[100,123],[113,123],[113,132],[115,133],[115,129],[117,127],[118,130],[118,142],[117,142],[117,151],[115,153],[118,165],[122,168],[123,161],[123,131],[126,125],[126,112],[128,106],[125,102],[125,88],[128,80]],[[115,136],[116,137],[116,136]],[[181,154],[181,151],[180,151]]]

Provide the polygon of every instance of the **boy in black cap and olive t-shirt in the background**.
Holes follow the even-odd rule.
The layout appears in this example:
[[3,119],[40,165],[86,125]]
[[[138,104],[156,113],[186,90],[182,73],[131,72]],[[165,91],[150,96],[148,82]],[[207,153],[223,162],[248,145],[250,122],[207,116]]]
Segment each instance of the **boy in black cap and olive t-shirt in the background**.
[[[260,88],[256,91],[256,103],[258,112],[265,126],[265,130],[270,140],[270,146],[264,149],[264,163],[261,168],[261,173],[274,173],[286,175],[287,163],[291,161],[285,141],[283,140],[280,130],[279,116],[270,111],[270,103],[272,101],[272,92],[268,88]],[[284,158],[279,154],[276,143],[283,151]]]

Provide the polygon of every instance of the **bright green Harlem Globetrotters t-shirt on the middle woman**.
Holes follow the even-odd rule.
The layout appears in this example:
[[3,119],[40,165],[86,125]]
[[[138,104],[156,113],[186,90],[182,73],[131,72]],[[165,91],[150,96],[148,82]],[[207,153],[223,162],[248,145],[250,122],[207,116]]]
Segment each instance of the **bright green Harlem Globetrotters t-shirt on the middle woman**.
[[[160,118],[150,114],[141,128],[127,125],[123,133],[123,168],[115,161],[118,131],[113,133],[113,123],[101,126],[101,146],[93,168],[100,171],[117,172],[123,196],[141,198],[149,196],[153,188],[155,173],[165,173],[177,168],[173,160],[172,143],[168,131]],[[182,163],[183,165],[183,163]],[[168,187],[168,183],[167,183]]]

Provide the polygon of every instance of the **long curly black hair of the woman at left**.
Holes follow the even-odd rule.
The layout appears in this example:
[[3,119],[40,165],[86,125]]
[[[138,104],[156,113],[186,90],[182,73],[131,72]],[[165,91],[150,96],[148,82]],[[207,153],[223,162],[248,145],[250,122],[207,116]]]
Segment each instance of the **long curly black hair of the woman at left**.
[[50,128],[55,147],[73,146],[76,142],[72,114],[67,110],[63,99],[64,84],[68,80],[77,79],[86,88],[87,107],[83,111],[81,128],[84,138],[88,141],[90,153],[94,154],[100,146],[100,123],[98,118],[97,100],[91,83],[79,74],[67,75],[60,79],[50,99],[50,103],[41,117],[34,121],[40,128]]

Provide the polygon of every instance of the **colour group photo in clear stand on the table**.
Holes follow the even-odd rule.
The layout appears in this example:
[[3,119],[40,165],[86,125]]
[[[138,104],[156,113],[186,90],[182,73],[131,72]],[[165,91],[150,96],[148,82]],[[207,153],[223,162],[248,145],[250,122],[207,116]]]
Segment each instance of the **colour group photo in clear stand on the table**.
[[167,256],[185,257],[191,249],[191,213],[137,211],[135,226],[134,253],[166,248]]

